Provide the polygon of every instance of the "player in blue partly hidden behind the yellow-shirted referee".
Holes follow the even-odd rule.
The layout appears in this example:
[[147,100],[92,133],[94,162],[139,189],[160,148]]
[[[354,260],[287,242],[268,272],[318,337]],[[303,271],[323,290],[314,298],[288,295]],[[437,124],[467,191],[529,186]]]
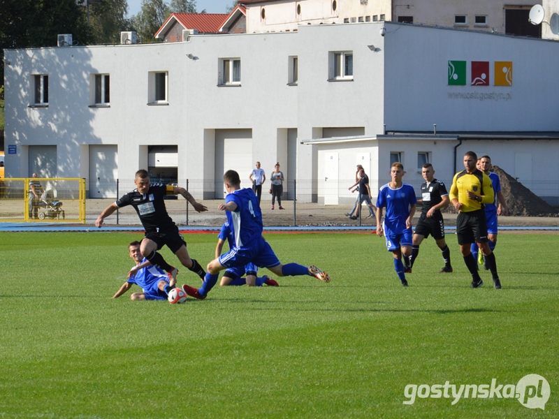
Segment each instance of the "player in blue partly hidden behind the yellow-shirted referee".
[[[509,209],[507,208],[507,203],[504,200],[504,196],[501,192],[501,181],[499,179],[499,175],[495,172],[491,172],[491,157],[483,156],[478,159],[477,161],[477,168],[488,175],[489,179],[491,179],[491,183],[493,184],[493,192],[495,193],[495,200],[493,203],[485,205],[485,216],[487,219],[487,238],[489,245],[489,249],[491,251],[495,250],[495,246],[497,246],[497,234],[498,234],[498,223],[497,223],[497,216],[503,215],[506,216],[509,214]],[[498,203],[498,205],[496,205]],[[479,247],[477,244],[472,243],[472,255],[474,255],[474,259],[478,260],[478,256],[483,256],[479,253]],[[489,267],[485,263],[485,258],[482,259],[484,262],[484,268],[486,270]]]

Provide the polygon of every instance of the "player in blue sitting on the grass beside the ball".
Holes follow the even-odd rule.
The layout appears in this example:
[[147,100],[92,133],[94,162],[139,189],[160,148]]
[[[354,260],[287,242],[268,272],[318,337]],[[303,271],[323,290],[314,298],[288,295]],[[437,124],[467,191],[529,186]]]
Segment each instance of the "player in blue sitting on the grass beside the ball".
[[118,298],[126,293],[133,284],[140,286],[141,293],[132,293],[130,300],[167,300],[170,289],[167,274],[159,267],[152,265],[142,256],[140,242],[131,242],[128,245],[130,257],[136,262],[128,274],[128,281],[124,282],[119,291],[112,298]]

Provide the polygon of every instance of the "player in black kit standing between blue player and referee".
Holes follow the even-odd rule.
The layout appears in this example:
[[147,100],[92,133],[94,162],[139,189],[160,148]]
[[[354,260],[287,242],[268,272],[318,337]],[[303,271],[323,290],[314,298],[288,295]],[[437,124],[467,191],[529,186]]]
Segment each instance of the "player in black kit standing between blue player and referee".
[[421,199],[417,200],[417,203],[422,205],[421,216],[414,231],[412,256],[409,256],[409,265],[406,266],[406,272],[412,272],[412,267],[419,254],[419,245],[429,235],[433,236],[437,246],[442,251],[444,267],[440,273],[452,272],[450,250],[447,242],[444,240],[444,221],[441,214],[441,210],[450,203],[449,193],[444,183],[435,179],[435,170],[433,170],[431,163],[423,165],[421,175],[426,180],[421,185]]

